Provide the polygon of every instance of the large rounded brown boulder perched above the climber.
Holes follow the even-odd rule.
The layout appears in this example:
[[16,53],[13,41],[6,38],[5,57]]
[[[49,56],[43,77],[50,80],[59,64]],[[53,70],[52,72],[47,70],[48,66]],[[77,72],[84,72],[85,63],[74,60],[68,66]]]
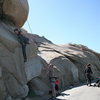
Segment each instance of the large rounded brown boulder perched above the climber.
[[25,23],[29,7],[27,0],[0,0],[0,15],[17,27]]

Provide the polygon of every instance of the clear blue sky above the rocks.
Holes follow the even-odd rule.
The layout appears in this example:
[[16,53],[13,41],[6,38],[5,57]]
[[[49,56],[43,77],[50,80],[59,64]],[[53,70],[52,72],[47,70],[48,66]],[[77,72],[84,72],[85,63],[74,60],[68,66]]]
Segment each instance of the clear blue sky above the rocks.
[[[100,0],[28,0],[24,28],[55,44],[82,44],[100,53]],[[31,30],[28,26],[31,27]]]

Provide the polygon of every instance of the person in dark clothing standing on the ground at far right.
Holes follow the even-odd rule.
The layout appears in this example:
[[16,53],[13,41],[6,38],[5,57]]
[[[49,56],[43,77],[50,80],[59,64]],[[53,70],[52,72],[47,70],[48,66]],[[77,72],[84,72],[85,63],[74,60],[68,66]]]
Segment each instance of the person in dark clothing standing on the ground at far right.
[[91,86],[91,75],[92,75],[92,69],[91,69],[91,64],[87,64],[85,68],[85,76],[87,80],[87,86]]

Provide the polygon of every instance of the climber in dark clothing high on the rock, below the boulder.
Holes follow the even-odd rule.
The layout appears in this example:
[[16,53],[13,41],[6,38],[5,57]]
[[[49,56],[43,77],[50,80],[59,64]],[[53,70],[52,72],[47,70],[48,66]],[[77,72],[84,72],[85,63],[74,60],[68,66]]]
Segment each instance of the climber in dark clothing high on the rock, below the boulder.
[[26,45],[29,44],[29,38],[23,36],[21,34],[21,30],[19,29],[15,29],[14,32],[17,34],[18,37],[18,41],[22,46],[22,53],[23,53],[23,57],[24,57],[24,62],[27,61],[27,56],[26,56]]

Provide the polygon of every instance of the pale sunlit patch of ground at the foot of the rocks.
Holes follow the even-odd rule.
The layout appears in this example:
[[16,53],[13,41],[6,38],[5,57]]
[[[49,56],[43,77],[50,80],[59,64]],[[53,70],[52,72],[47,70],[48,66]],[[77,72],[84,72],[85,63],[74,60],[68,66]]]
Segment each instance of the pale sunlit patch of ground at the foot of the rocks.
[[65,95],[57,97],[59,100],[100,100],[100,87],[84,85],[62,93]]

